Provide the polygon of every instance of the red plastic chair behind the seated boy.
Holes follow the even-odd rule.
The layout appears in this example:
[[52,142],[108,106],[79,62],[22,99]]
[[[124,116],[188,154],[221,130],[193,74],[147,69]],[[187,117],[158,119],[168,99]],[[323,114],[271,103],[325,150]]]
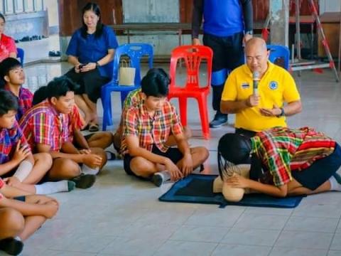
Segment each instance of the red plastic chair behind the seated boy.
[[[183,126],[187,125],[187,99],[193,97],[199,105],[202,134],[205,139],[210,138],[210,127],[208,121],[207,95],[210,94],[212,73],[211,48],[207,46],[179,46],[173,49],[171,54],[171,85],[169,87],[168,99],[179,98],[180,120]],[[184,87],[176,85],[176,67],[178,60],[183,60],[187,70],[187,79]],[[207,61],[207,84],[202,86],[199,81],[200,63]]]

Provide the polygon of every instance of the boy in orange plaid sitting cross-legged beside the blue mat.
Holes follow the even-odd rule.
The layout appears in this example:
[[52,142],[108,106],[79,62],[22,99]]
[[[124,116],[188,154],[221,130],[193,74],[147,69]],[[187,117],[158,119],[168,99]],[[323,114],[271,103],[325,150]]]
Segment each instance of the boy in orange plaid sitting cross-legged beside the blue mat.
[[[188,176],[208,157],[205,147],[190,148],[175,107],[166,100],[170,78],[161,68],[148,71],[141,81],[141,104],[123,113],[121,153],[129,175],[163,181]],[[172,131],[177,148],[166,142]]]

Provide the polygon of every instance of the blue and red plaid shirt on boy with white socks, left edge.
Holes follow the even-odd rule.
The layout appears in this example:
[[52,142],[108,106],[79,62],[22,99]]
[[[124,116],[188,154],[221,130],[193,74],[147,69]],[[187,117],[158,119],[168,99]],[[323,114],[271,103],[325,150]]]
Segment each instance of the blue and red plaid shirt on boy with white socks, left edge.
[[18,122],[14,122],[11,129],[0,129],[0,164],[5,164],[11,159],[18,142],[21,147],[28,144]]

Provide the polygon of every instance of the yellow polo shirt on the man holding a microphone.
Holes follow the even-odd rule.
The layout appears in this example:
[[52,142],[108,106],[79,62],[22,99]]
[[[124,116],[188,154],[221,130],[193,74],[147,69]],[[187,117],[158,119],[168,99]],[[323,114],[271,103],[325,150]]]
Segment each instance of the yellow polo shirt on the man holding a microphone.
[[[222,100],[247,100],[253,93],[252,73],[244,64],[229,74]],[[256,107],[247,107],[236,114],[236,128],[260,132],[271,127],[286,127],[286,117],[265,117],[260,108],[283,107],[284,102],[300,100],[295,80],[285,69],[268,61],[268,69],[258,85],[260,102]]]

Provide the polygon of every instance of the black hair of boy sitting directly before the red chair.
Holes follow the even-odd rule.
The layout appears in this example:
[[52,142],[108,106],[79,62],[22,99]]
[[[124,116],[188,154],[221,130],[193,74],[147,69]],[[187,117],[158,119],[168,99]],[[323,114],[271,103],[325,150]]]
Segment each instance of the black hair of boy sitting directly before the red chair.
[[162,68],[151,68],[141,81],[141,91],[148,96],[166,97],[171,78]]

